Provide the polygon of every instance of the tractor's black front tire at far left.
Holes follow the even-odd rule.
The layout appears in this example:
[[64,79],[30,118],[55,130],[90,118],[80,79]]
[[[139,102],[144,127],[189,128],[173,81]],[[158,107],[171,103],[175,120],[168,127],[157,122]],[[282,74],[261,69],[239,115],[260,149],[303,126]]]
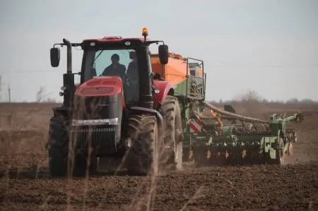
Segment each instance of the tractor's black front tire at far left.
[[66,176],[69,156],[69,135],[64,119],[53,116],[49,121],[49,173],[51,176]]

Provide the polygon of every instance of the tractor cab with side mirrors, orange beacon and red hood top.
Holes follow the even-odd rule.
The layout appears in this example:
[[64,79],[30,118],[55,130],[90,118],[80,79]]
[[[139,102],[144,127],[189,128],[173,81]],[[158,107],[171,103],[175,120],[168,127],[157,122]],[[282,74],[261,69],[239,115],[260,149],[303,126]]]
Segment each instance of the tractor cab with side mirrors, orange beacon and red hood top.
[[[66,107],[73,107],[72,93],[88,97],[90,95],[107,96],[113,90],[122,93],[124,107],[153,107],[150,44],[163,41],[148,40],[148,30],[143,28],[143,38],[123,38],[119,36],[102,39],[83,40],[82,43],[70,43],[64,40],[61,46],[68,46],[68,72],[64,74],[64,86],[60,93],[64,96]],[[51,64],[59,66],[59,48],[51,49]],[[71,47],[83,49],[81,82],[73,90],[71,72]],[[158,48],[160,63],[167,64],[167,45]],[[108,93],[108,94],[107,94]],[[76,97],[76,96],[75,96]]]

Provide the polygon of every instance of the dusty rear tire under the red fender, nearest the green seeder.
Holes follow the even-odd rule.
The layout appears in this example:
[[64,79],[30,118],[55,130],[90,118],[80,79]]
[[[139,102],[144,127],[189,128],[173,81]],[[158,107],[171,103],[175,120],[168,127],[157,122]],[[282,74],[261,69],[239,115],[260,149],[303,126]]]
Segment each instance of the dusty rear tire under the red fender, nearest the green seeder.
[[182,169],[183,130],[177,97],[168,95],[160,107],[163,115],[164,153],[160,165],[166,169]]

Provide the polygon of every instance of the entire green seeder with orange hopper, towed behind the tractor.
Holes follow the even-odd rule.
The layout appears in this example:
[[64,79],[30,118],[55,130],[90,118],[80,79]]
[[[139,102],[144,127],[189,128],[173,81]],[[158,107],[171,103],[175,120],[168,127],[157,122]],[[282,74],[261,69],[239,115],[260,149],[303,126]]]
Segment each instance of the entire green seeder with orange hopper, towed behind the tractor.
[[[152,65],[165,80],[175,82],[173,95],[179,100],[184,130],[183,161],[199,165],[282,164],[285,155],[293,154],[297,136],[295,128],[286,128],[286,123],[302,121],[302,114],[286,118],[274,114],[270,120],[262,120],[235,114],[230,105],[218,109],[205,102],[203,61],[170,54],[165,67],[156,56]],[[224,120],[229,123],[223,125]]]

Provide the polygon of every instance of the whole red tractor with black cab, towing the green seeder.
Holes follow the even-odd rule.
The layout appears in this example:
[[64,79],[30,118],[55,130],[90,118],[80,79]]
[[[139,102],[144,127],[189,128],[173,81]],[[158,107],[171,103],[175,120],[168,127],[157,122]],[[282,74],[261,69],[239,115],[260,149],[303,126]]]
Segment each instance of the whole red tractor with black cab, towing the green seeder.
[[[138,175],[156,174],[158,167],[182,167],[182,119],[174,88],[151,69],[148,47],[158,44],[161,64],[168,47],[141,38],[104,37],[54,44],[51,65],[59,66],[67,47],[61,107],[54,107],[47,150],[52,176],[85,176],[98,169],[98,157],[120,160]],[[72,73],[72,47],[83,49],[80,73]],[[81,76],[78,85],[74,75]]]

